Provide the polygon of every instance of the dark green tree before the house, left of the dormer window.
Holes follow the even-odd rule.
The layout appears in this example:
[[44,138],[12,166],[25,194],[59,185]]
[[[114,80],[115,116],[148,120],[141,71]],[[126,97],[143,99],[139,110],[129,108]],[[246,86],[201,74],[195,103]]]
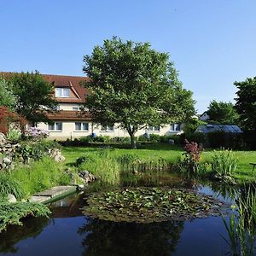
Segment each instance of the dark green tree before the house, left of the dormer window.
[[32,123],[47,121],[45,114],[56,106],[53,85],[46,82],[37,71],[15,73],[9,80],[17,96],[16,112]]

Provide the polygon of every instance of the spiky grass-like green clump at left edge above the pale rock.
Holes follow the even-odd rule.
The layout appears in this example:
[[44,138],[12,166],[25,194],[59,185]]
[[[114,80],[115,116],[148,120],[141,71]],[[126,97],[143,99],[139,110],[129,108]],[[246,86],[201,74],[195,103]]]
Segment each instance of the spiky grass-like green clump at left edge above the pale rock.
[[0,201],[1,197],[3,200],[8,194],[15,195],[17,200],[21,200],[24,196],[21,182],[15,180],[9,173],[0,172]]

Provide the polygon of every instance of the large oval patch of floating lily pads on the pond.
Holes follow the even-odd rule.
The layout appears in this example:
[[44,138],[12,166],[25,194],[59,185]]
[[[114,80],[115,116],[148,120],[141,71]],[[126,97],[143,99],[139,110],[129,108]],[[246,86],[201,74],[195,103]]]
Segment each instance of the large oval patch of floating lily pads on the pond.
[[224,203],[189,189],[131,188],[95,193],[87,199],[85,215],[112,221],[151,223],[218,215]]

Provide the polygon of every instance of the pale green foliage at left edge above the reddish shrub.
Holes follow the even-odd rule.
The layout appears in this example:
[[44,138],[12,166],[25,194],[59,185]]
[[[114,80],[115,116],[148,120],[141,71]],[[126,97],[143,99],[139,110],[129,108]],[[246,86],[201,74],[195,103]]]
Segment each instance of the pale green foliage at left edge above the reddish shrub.
[[12,84],[0,78],[0,106],[15,110],[16,96],[12,90]]

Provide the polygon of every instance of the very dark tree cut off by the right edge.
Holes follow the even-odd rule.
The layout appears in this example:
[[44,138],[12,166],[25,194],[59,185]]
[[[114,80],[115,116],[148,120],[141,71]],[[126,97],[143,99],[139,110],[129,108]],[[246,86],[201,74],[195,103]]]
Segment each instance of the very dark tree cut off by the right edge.
[[241,125],[246,131],[256,131],[256,77],[234,84],[238,89],[235,107]]

